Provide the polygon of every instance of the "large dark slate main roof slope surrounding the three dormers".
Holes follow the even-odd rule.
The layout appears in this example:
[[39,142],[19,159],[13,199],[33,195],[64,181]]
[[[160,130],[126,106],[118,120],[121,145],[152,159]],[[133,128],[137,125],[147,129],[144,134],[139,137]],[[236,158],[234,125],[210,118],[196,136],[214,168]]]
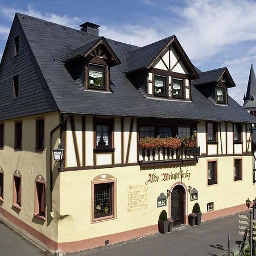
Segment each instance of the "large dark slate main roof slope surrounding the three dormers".
[[[133,51],[139,47],[110,39],[106,41],[121,60],[121,64],[110,69],[111,92],[82,90],[65,68],[64,61],[71,51],[99,37],[23,14],[16,17],[61,113],[255,122],[231,97],[228,97],[229,106],[215,105],[195,86],[191,86],[192,102],[143,96],[124,73],[131,64]],[[166,44],[162,41],[162,45]],[[154,44],[151,47],[154,48]],[[147,46],[146,52],[151,52],[151,47]],[[141,49],[143,52],[143,47]]]

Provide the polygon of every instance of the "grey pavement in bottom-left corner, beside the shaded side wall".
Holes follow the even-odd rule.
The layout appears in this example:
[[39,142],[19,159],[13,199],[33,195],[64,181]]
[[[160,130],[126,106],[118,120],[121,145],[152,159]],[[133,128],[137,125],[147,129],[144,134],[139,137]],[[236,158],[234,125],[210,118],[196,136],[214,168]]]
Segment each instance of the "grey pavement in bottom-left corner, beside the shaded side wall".
[[41,251],[0,221],[1,256],[42,256]]

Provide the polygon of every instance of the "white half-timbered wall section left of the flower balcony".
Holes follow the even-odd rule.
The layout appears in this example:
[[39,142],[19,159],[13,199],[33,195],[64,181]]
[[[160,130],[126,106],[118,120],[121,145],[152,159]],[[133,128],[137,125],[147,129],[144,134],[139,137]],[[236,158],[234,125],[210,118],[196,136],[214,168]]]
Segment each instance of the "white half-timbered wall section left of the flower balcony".
[[65,133],[65,167],[94,168],[137,163],[135,118],[105,117],[112,122],[112,150],[95,150],[94,122],[97,117],[70,115]]

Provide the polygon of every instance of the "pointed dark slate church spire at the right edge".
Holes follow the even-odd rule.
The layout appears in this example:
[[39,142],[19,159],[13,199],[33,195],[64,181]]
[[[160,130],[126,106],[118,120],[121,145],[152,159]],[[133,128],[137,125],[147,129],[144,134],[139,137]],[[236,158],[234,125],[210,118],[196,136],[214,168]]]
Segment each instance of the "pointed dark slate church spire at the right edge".
[[246,95],[243,97],[243,108],[255,109],[256,108],[256,78],[253,69],[253,64],[251,64],[250,75],[246,90]]

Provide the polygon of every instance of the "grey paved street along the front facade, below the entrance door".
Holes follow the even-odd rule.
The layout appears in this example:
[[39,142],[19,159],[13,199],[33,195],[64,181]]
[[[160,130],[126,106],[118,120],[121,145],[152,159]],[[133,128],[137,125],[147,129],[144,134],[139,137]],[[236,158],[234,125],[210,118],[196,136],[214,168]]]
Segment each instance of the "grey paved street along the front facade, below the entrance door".
[[[156,234],[147,240],[127,243],[126,245],[110,245],[108,249],[86,251],[83,255],[105,256],[206,256],[221,255],[228,247],[228,233],[231,246],[242,240],[238,234],[238,215],[208,221],[200,226],[185,226],[173,230],[167,235]],[[120,243],[121,245],[121,243]]]

